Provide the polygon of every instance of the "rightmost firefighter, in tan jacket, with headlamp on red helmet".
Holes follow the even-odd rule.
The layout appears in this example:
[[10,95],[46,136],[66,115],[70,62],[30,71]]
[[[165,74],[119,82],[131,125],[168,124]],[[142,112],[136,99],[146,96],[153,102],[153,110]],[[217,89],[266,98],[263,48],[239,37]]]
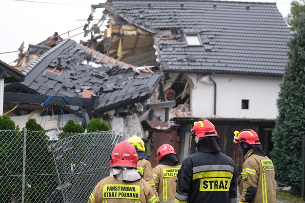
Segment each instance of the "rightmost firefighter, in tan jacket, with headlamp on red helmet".
[[239,203],[276,203],[274,166],[265,155],[257,133],[244,129],[234,134],[234,142],[240,144],[245,159],[238,178]]

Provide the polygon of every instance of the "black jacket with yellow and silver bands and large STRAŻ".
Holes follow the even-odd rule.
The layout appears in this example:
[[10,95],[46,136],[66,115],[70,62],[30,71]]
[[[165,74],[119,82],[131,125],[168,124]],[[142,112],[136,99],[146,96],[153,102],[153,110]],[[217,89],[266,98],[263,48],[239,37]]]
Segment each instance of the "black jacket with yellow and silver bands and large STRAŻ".
[[175,203],[236,203],[235,162],[222,152],[199,151],[183,160]]

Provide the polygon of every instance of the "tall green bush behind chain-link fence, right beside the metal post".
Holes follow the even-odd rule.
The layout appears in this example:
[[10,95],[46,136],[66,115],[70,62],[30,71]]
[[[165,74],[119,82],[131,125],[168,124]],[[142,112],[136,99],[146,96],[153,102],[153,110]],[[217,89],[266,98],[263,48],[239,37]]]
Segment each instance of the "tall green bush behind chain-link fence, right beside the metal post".
[[[49,137],[35,119],[28,119],[25,123],[27,129],[26,150],[26,187],[27,202],[44,202],[52,191],[58,186],[56,168],[52,153],[49,152]],[[43,174],[43,175],[42,175]]]

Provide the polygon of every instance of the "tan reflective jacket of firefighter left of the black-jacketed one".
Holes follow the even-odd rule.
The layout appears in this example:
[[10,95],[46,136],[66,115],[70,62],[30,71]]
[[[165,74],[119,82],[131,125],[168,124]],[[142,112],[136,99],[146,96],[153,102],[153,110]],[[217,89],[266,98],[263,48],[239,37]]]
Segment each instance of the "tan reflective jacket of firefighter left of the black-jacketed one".
[[[174,202],[177,174],[181,165],[157,165],[153,170],[154,182],[161,203]],[[167,202],[167,203],[169,203]]]

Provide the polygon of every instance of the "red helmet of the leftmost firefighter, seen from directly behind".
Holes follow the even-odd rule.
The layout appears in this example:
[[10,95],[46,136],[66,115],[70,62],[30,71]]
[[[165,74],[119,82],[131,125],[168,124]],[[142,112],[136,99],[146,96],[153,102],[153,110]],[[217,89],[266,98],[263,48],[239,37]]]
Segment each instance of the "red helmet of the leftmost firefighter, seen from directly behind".
[[122,141],[114,146],[111,153],[110,167],[137,168],[139,160],[136,148],[128,141]]

